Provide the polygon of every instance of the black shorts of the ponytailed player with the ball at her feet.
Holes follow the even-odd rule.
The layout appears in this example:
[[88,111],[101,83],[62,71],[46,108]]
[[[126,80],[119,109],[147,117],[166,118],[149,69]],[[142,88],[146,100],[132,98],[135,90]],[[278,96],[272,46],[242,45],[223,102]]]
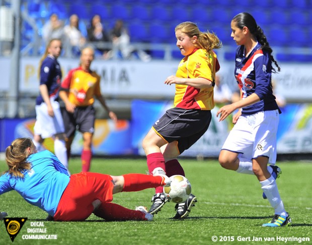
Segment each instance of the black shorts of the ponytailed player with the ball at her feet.
[[153,129],[168,143],[178,141],[180,154],[189,149],[207,131],[210,110],[171,108],[155,122]]

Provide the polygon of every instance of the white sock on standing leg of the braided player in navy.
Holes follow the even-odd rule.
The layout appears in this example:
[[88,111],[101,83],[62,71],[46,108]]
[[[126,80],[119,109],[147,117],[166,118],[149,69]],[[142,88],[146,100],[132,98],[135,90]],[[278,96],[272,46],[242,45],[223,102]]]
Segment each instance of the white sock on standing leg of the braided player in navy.
[[271,206],[274,208],[275,214],[287,216],[287,213],[285,211],[284,204],[279,195],[274,177],[271,176],[267,180],[260,181],[260,184],[261,184],[261,189],[263,190],[264,194],[267,196],[268,201],[270,202]]

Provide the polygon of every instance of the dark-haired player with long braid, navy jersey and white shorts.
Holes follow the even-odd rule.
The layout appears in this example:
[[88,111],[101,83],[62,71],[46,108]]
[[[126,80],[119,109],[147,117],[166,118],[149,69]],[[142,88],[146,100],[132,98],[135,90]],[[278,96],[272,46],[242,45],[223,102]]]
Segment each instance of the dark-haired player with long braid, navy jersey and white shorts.
[[[242,99],[221,107],[217,116],[224,120],[233,111],[235,126],[229,133],[219,155],[220,165],[238,173],[255,174],[260,181],[263,197],[274,208],[274,218],[263,226],[289,225],[276,185],[281,173],[276,162],[276,133],[280,110],[272,92],[272,72],[280,67],[272,56],[263,30],[248,13],[231,21],[231,37],[239,45],[235,59],[235,77]],[[270,164],[268,166],[268,164]]]

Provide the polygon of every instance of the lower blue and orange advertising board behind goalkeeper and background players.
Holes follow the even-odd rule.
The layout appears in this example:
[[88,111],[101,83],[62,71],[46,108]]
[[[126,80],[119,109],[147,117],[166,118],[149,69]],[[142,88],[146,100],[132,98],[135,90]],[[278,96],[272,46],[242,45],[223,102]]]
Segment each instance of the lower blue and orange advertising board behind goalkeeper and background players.
[[[0,119],[1,152],[16,138],[34,136],[35,118]],[[54,141],[47,138],[44,148],[54,152]],[[76,132],[71,145],[71,154],[80,155],[83,150],[82,134]],[[96,119],[93,137],[93,153],[95,155],[132,155],[130,124],[128,120],[114,122],[107,119]]]

